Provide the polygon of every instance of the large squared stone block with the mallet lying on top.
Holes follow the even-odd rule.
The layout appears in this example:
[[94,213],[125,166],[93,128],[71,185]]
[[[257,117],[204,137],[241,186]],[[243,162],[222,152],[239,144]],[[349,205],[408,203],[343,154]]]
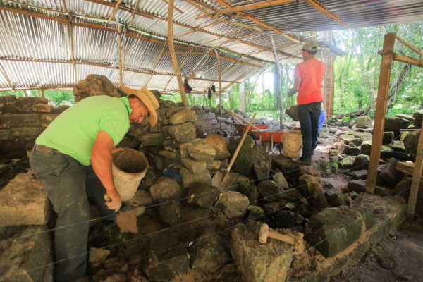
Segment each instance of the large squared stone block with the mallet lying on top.
[[[259,226],[256,229],[259,230]],[[249,232],[243,225],[233,228],[231,252],[245,282],[285,281],[293,259],[291,245],[272,239],[261,244],[257,231]]]

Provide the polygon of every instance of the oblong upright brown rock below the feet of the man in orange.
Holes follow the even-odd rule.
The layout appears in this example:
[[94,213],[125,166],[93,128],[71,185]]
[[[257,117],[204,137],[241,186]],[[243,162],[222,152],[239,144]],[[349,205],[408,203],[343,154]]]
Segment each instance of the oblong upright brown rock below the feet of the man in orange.
[[324,197],[324,188],[318,177],[305,174],[298,178],[298,183],[302,194],[305,197],[309,197],[309,202],[313,207],[316,209],[328,207],[328,203]]

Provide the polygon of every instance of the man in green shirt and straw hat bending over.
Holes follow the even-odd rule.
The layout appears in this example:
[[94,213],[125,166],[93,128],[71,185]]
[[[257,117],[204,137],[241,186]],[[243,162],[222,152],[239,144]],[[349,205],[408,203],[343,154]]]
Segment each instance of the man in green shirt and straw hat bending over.
[[[157,124],[159,102],[152,92],[147,88],[121,89],[128,97],[87,97],[63,111],[39,135],[30,154],[32,171],[43,181],[57,214],[56,281],[75,281],[85,275],[88,200],[99,204],[104,214],[114,214],[121,208],[111,162],[130,123],[147,119],[152,127]],[[110,202],[104,201],[104,193]]]

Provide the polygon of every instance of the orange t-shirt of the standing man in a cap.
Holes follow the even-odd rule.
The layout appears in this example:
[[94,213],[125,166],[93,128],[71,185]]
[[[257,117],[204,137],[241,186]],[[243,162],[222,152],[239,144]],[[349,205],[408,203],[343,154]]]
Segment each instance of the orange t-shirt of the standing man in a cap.
[[321,81],[324,78],[326,66],[317,59],[311,59],[298,63],[295,66],[294,77],[300,78],[300,90],[297,95],[297,104],[309,104],[321,102]]

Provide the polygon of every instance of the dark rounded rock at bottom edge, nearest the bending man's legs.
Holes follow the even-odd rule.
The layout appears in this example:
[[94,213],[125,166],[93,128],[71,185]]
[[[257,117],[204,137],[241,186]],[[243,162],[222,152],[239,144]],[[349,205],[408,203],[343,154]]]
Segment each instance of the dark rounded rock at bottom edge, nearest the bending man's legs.
[[185,275],[190,266],[185,246],[166,232],[151,236],[142,255],[142,270],[149,281],[169,281]]

